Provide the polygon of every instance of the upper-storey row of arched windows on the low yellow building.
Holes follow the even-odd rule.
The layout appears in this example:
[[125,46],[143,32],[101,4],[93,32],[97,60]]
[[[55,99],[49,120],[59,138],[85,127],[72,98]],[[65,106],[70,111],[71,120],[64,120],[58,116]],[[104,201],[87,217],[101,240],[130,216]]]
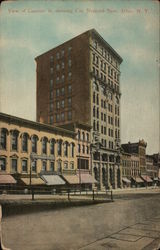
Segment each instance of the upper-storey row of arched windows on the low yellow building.
[[[32,153],[37,153],[38,151],[38,136],[37,135],[32,135],[29,136],[28,133],[22,133],[19,135],[18,130],[11,130],[10,134],[10,145],[11,145],[11,151],[18,151],[19,150],[19,144],[18,144],[18,139],[21,138],[21,151],[22,152],[28,152],[29,148],[29,140],[31,141],[31,152]],[[7,149],[7,136],[9,135],[9,132],[7,129],[2,128],[0,131],[0,149],[6,150]],[[62,156],[62,150],[63,150],[63,155],[65,157],[69,156],[70,152],[70,157],[74,157],[74,148],[75,144],[74,142],[69,143],[68,141],[63,140],[55,140],[55,139],[50,139],[48,140],[47,137],[42,137],[40,139],[41,141],[41,153],[42,154],[47,154],[48,151],[48,146],[49,146],[49,153],[51,155],[55,154],[55,145],[57,145],[57,155]]]

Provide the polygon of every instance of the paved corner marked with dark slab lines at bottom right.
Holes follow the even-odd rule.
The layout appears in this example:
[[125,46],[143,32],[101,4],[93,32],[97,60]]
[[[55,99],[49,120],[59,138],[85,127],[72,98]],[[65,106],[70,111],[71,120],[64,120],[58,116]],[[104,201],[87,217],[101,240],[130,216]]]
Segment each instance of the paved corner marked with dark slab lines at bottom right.
[[79,250],[159,250],[160,217],[123,228],[107,237],[79,248]]

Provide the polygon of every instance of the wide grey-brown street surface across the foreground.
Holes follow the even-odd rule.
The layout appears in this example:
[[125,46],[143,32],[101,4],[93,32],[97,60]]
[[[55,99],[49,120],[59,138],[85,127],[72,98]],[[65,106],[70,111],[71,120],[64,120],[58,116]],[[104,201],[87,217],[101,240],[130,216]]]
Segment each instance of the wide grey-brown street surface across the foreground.
[[5,217],[2,234],[12,250],[143,249],[160,241],[160,194]]

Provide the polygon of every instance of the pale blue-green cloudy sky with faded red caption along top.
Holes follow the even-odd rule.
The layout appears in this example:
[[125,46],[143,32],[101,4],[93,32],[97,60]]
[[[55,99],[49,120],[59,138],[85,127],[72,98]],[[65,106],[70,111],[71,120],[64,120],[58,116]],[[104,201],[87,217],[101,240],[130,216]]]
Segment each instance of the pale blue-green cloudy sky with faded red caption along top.
[[89,29],[123,58],[121,142],[160,152],[156,0],[6,1],[0,7],[0,112],[36,120],[34,58]]

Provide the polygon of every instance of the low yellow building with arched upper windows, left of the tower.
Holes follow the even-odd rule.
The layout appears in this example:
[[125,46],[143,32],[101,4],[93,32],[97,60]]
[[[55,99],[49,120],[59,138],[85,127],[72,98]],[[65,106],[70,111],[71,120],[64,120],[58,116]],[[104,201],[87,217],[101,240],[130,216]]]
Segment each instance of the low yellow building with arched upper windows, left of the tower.
[[[94,183],[90,173],[89,132],[83,127],[83,154],[78,152],[76,131],[53,127],[15,116],[0,113],[0,174],[10,174],[28,183],[30,175],[45,179],[46,174],[62,176],[58,184],[81,184],[77,164],[82,156],[82,168],[87,170],[86,184]],[[50,176],[51,178],[51,176]],[[58,177],[57,177],[58,178]],[[56,183],[57,183],[56,179]],[[52,182],[54,184],[54,181]]]

